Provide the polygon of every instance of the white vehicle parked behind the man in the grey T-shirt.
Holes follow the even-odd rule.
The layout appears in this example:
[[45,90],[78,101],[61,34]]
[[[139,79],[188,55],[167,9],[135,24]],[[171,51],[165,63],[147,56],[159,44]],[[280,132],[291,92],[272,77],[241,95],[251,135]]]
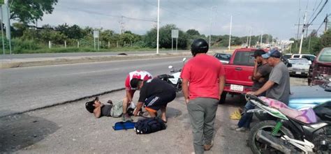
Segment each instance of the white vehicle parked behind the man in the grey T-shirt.
[[292,64],[292,67],[288,68],[290,75],[308,75],[311,62],[307,59],[288,59],[288,63]]

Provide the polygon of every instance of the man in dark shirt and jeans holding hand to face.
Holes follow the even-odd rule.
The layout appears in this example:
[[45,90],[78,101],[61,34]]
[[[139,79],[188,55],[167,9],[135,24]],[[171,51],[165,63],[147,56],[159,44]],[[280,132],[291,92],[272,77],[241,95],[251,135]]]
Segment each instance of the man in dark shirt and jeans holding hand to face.
[[[251,75],[251,80],[253,81],[253,91],[261,88],[268,80],[272,67],[267,63],[267,59],[263,59],[262,55],[265,54],[263,49],[257,49],[252,56],[254,56],[254,68],[253,74]],[[261,93],[259,96],[265,96],[265,92]],[[249,130],[249,125],[253,118],[252,113],[247,113],[249,109],[254,109],[254,105],[251,102],[247,102],[244,107],[244,114],[240,118],[237,125],[233,125],[231,130],[236,130],[238,132],[246,132]]]

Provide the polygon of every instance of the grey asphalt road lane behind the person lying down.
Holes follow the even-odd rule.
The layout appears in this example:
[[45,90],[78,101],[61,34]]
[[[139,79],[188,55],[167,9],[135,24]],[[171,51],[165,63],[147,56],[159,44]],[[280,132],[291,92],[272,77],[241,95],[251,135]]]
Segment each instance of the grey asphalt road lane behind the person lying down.
[[169,65],[181,67],[182,57],[1,69],[0,116],[124,88],[128,72],[160,75]]

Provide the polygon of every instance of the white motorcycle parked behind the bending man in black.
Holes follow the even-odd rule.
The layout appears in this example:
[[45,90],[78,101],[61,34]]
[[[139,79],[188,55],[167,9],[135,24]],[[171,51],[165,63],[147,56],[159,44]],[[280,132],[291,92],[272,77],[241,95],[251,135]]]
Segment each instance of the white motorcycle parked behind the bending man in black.
[[[183,63],[185,63],[186,58],[184,58],[182,61]],[[158,75],[157,77],[174,86],[176,92],[182,91],[182,79],[180,78],[180,73],[182,72],[182,68],[179,68],[178,70],[176,70],[173,66],[168,66],[168,68],[172,69],[170,70],[170,73],[172,73],[171,75],[163,74],[163,75]]]

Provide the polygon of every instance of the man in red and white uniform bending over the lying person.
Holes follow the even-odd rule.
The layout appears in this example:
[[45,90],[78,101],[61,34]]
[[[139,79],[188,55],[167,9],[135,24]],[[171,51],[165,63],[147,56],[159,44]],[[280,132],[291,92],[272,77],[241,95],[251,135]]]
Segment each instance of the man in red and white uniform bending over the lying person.
[[152,79],[152,75],[144,70],[135,70],[133,72],[129,72],[128,76],[126,76],[125,79],[125,91],[126,91],[126,99],[128,100],[128,103],[123,103],[123,115],[122,120],[123,121],[132,121],[132,118],[126,113],[126,110],[128,108],[128,105],[130,105],[132,102],[133,95],[135,94],[135,90],[137,88],[132,88],[130,85],[131,79],[142,79],[143,81],[147,81],[148,79]]

